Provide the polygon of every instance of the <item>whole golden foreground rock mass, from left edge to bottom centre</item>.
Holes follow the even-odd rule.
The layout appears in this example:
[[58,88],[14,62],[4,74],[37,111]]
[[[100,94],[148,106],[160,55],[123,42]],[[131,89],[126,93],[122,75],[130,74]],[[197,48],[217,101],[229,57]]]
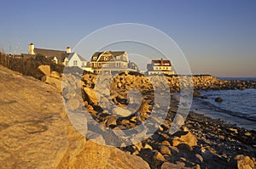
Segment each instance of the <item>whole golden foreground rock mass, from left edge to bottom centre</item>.
[[86,141],[55,87],[0,65],[0,88],[1,168],[149,168],[136,155]]

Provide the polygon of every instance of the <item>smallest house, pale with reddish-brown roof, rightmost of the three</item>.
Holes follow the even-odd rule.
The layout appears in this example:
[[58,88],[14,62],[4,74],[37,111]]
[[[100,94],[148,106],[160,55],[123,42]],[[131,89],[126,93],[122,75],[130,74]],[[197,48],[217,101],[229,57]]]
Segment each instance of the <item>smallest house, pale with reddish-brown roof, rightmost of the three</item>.
[[165,59],[153,59],[151,64],[147,65],[148,75],[173,75],[172,64],[170,60]]

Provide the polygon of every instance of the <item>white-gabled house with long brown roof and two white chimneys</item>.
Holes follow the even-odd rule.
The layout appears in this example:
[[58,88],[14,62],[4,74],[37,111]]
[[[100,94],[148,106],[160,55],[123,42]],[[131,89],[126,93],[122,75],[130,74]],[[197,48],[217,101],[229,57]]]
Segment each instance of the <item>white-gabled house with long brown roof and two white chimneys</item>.
[[83,69],[87,61],[79,54],[71,53],[71,48],[67,47],[66,51],[53,50],[46,48],[35,48],[33,43],[29,44],[28,54],[21,54],[22,58],[35,58],[37,55],[51,59],[55,64],[78,66]]

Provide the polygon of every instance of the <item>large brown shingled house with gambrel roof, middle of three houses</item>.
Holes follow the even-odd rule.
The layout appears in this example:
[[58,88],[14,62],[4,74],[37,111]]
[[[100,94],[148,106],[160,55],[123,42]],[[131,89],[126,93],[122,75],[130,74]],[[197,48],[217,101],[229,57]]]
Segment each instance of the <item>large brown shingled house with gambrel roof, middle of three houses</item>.
[[122,71],[137,71],[135,64],[130,66],[125,51],[104,51],[92,55],[89,65],[94,73],[118,73]]

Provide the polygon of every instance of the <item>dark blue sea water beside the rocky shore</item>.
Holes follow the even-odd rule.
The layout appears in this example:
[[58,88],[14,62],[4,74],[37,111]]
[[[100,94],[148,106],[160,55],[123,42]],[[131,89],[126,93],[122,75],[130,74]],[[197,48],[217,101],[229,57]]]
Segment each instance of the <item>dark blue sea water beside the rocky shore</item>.
[[[249,80],[256,78],[224,78],[224,80]],[[200,91],[207,99],[193,99],[191,110],[215,119],[222,119],[239,127],[256,130],[256,89]],[[215,102],[220,97],[223,102]]]

